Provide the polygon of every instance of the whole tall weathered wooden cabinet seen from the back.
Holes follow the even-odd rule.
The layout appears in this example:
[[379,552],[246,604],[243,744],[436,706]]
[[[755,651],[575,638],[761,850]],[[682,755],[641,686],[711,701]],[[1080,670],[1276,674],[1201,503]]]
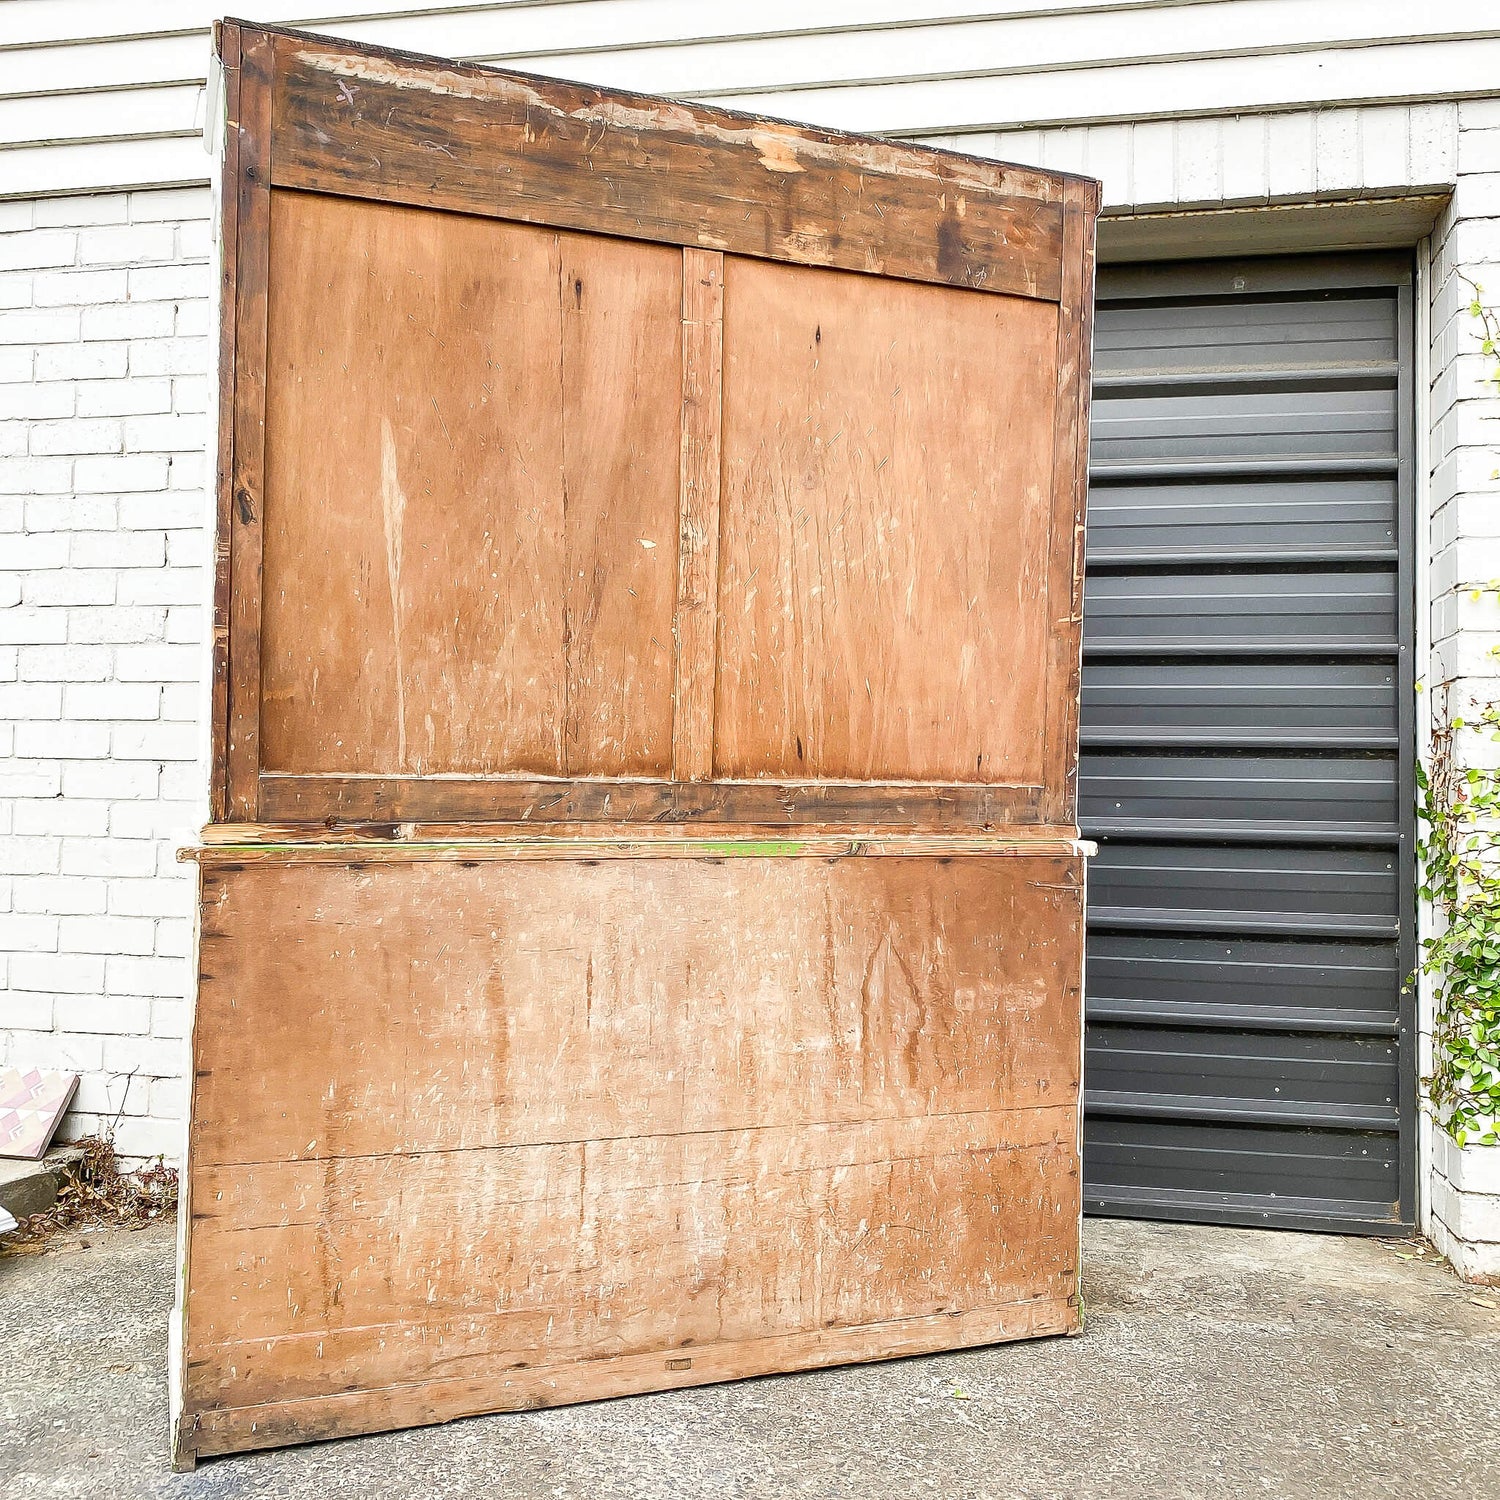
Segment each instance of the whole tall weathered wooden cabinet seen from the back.
[[178,1462],[1076,1329],[1095,184],[218,46]]

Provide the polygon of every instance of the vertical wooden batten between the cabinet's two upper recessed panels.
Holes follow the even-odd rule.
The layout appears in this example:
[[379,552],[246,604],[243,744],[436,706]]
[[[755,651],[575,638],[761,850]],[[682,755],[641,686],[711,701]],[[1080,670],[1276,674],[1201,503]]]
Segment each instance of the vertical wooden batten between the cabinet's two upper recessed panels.
[[672,778],[714,770],[718,484],[723,435],[724,256],[682,249],[682,462],[672,621]]

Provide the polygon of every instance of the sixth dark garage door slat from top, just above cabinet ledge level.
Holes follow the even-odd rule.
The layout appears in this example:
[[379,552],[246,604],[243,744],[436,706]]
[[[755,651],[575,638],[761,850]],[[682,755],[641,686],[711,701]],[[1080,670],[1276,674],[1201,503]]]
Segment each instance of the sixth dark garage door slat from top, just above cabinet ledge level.
[[1396,831],[1395,754],[1086,753],[1078,816],[1112,832],[1276,824],[1284,830]]

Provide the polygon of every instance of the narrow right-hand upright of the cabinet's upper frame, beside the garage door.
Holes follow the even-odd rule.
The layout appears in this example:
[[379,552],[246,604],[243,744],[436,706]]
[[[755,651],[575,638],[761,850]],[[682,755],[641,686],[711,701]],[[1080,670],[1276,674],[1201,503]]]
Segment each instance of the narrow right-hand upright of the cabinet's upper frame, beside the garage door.
[[1058,393],[1048,525],[1046,816],[1077,818],[1078,684],[1083,654],[1084,506],[1089,489],[1089,393],[1094,354],[1094,225],[1096,183],[1065,194],[1064,286],[1058,308]]

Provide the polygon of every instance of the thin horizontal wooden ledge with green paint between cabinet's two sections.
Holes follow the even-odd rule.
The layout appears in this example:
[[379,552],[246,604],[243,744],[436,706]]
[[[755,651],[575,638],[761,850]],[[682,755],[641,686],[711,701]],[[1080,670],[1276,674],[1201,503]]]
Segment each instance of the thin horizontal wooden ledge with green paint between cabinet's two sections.
[[270,826],[210,824],[202,842],[178,850],[198,864],[264,862],[276,860],[364,864],[412,860],[838,860],[862,855],[957,858],[1008,855],[1070,858],[1092,855],[1095,844],[1072,828],[994,830],[934,834],[891,830],[819,830],[789,836],[786,830],[590,830],[566,832],[482,831],[398,824],[372,828]]

